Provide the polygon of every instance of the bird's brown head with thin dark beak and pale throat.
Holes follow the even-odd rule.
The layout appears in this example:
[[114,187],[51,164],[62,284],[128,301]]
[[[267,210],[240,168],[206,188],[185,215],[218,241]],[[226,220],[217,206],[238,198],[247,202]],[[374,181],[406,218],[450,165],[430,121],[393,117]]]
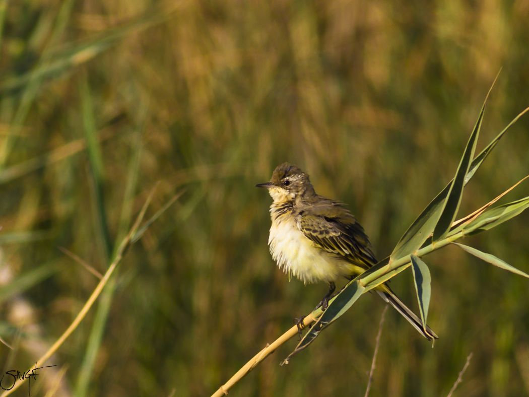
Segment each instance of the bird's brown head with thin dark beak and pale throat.
[[295,165],[283,163],[273,170],[270,182],[260,183],[257,187],[266,187],[274,202],[295,200],[298,196],[314,194],[314,188],[308,175]]

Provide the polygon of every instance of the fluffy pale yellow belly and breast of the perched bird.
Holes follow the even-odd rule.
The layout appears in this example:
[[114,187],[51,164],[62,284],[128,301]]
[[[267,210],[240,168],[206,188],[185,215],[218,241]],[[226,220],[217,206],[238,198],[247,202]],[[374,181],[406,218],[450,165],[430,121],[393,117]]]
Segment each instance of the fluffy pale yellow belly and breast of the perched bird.
[[270,254],[279,268],[302,280],[331,282],[353,274],[354,265],[315,247],[298,229],[294,219],[272,222],[268,239]]

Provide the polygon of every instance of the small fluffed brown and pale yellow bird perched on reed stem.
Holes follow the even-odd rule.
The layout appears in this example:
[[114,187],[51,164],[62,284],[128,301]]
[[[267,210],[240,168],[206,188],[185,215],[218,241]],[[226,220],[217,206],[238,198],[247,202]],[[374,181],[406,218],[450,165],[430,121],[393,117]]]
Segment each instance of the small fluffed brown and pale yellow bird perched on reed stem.
[[[326,310],[342,277],[353,279],[377,263],[369,238],[345,204],[316,194],[308,174],[290,163],[273,170],[266,188],[272,197],[268,246],[278,267],[304,284],[325,282],[329,292],[316,308]],[[395,295],[387,283],[378,295],[395,308],[423,337],[435,332]],[[298,320],[298,329],[300,322]]]

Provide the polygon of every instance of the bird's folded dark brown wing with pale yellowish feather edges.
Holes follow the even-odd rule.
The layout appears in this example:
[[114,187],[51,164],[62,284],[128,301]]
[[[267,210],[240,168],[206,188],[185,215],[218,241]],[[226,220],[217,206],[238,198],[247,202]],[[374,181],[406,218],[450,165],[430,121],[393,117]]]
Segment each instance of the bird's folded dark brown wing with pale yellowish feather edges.
[[366,269],[377,263],[363,228],[340,203],[308,206],[296,215],[296,223],[305,237],[330,254]]

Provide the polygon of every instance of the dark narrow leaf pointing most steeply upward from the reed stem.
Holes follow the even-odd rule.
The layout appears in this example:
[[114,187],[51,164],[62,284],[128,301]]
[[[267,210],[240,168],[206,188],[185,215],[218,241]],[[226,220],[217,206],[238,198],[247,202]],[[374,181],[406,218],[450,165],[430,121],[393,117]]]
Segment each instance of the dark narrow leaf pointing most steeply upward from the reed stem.
[[479,130],[481,129],[484,113],[485,103],[481,107],[478,121],[476,121],[474,130],[470,134],[467,147],[464,149],[463,156],[461,157],[458,169],[455,172],[455,177],[450,186],[448,197],[446,197],[446,200],[443,203],[441,216],[439,217],[439,221],[437,221],[433,231],[433,241],[441,240],[446,236],[446,233],[449,232],[452,222],[455,219],[455,215],[458,213],[461,197],[463,195],[464,180],[468,173],[472,157],[474,157],[474,152],[476,151],[476,143],[478,141]]

